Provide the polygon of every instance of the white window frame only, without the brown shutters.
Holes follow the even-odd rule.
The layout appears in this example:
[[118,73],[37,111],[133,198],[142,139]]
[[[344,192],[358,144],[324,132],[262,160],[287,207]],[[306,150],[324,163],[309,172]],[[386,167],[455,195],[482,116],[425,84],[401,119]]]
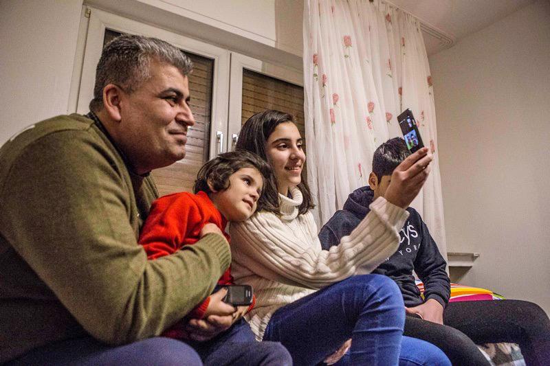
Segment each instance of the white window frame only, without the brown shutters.
[[[78,34],[77,65],[73,73],[75,80],[72,82],[72,93],[69,98],[70,111],[80,114],[89,111],[88,104],[94,94],[96,65],[101,56],[106,29],[160,38],[183,49],[184,52],[214,60],[209,159],[221,152],[234,150],[234,137],[238,137],[241,130],[243,69],[300,87],[304,85],[303,71],[300,69],[245,56],[228,48],[214,46],[183,34],[85,5]],[[223,141],[220,141],[220,137]]]

